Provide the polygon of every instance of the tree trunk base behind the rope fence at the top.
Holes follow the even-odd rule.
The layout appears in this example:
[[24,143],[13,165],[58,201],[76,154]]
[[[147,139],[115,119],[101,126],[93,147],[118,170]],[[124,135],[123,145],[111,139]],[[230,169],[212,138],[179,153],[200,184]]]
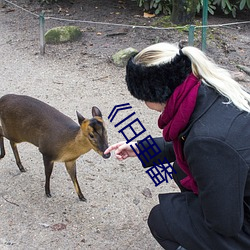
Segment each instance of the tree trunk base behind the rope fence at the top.
[[171,22],[178,25],[192,24],[198,0],[173,0]]

